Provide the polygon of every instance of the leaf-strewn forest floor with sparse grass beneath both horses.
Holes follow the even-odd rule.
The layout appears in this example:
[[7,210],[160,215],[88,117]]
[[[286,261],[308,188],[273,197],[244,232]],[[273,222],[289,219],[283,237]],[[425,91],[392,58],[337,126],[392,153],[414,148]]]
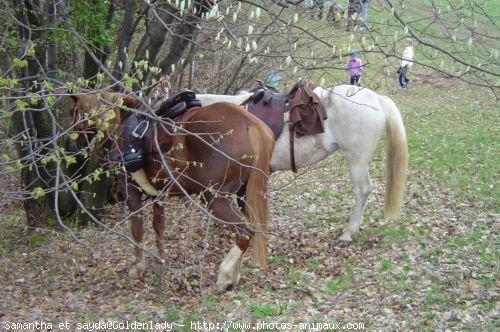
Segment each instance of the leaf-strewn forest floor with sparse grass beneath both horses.
[[[214,324],[204,330],[216,324],[241,330],[244,326],[235,324],[244,323],[251,324],[245,330],[498,328],[498,205],[493,197],[478,194],[475,186],[454,184],[454,174],[466,166],[429,168],[432,162],[425,152],[432,140],[417,147],[421,132],[416,128],[432,121],[433,102],[443,102],[433,95],[437,86],[448,89],[451,83],[428,80],[428,86],[418,87],[418,77],[414,82],[408,91],[391,95],[401,105],[412,156],[399,220],[387,221],[382,214],[382,149],[371,165],[374,190],[361,230],[349,246],[336,242],[352,205],[351,184],[340,155],[299,175],[273,174],[270,264],[265,270],[253,268],[247,255],[239,287],[219,294],[214,287],[218,265],[232,241],[222,227],[209,225],[179,200],[165,203],[168,259],[161,264],[147,256],[142,281],[128,278],[131,245],[118,234],[129,234],[123,205],[110,208],[106,222],[114,232],[86,227],[70,234],[27,229],[22,204],[6,202],[0,216],[0,331],[35,321],[51,323],[54,330],[65,322],[70,330],[91,330],[92,325],[77,324],[99,321],[151,324],[142,327],[145,331],[165,327],[156,323],[203,329],[203,322]],[[473,93],[461,85],[452,89],[460,96]],[[428,99],[422,101],[423,95]],[[487,110],[492,111],[496,106],[488,100]],[[457,99],[448,104],[473,109],[474,101]],[[431,103],[426,111],[415,106],[425,102]],[[460,116],[462,109],[453,113],[449,105],[449,116]],[[498,127],[498,122],[493,125]],[[494,135],[497,143],[492,144],[498,144],[498,131]],[[447,143],[450,156],[455,143]],[[474,163],[490,158],[482,149],[473,153]],[[498,180],[496,167],[492,172]],[[471,181],[467,183],[484,182]],[[493,176],[488,188],[496,186]],[[151,226],[145,225],[146,246],[154,251]],[[121,327],[114,325],[112,330]]]

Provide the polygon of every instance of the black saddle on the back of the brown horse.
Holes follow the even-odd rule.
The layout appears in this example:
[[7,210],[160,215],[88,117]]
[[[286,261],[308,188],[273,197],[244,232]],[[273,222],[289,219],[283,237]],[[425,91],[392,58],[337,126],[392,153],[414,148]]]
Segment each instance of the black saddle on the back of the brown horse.
[[[162,102],[155,113],[162,119],[172,119],[175,122],[188,110],[200,106],[201,101],[196,99],[195,93],[184,90]],[[154,126],[157,128],[156,132],[162,152],[166,152],[172,147],[174,124],[162,123],[161,126],[158,126],[158,123],[154,123],[154,126],[150,126],[151,121],[152,119],[149,117],[131,112],[122,122],[124,153],[118,158],[121,158],[125,169],[129,172],[136,172],[145,166],[145,152],[158,152],[156,144],[154,144],[154,130],[151,130]]]

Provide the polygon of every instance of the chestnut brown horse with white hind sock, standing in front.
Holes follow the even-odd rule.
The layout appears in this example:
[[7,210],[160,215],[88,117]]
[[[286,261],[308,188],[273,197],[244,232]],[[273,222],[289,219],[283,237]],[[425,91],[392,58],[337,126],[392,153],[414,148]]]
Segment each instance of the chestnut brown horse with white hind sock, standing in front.
[[[77,129],[97,132],[105,127],[107,138],[117,135],[118,141],[122,140],[121,124],[127,116],[122,104],[137,105],[116,94],[101,94],[99,99],[96,95],[72,98]],[[267,264],[266,193],[274,137],[259,119],[231,103],[191,109],[176,120],[182,124],[173,126],[170,121],[158,118],[151,122],[146,135],[149,148],[144,167],[150,181],[141,181],[160,196],[201,194],[211,217],[233,227],[235,245],[222,261],[217,279],[219,290],[231,289],[239,282],[242,257],[250,243],[254,263],[261,267]],[[172,135],[173,127],[176,131]],[[165,145],[172,148],[164,151]],[[136,212],[142,208],[143,191],[134,181],[125,176],[123,179],[126,202],[132,213],[132,237],[136,241],[135,262],[129,275],[141,277],[146,268],[140,246],[144,230]],[[153,203],[153,228],[159,256],[165,259],[164,211],[159,199]]]

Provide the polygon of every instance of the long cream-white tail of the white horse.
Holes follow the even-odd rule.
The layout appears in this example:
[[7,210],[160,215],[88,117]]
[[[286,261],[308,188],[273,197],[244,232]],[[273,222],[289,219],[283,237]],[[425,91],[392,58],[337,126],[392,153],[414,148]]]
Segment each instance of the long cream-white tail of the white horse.
[[380,96],[387,117],[387,160],[384,215],[387,219],[399,216],[403,202],[406,172],[408,169],[408,144],[401,113],[394,102]]

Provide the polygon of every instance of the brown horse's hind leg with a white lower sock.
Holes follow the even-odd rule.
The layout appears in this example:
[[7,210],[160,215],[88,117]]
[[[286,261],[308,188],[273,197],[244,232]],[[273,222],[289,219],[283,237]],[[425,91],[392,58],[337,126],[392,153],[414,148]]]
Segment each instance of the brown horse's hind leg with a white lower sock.
[[250,246],[253,231],[244,223],[243,213],[236,204],[225,198],[212,198],[209,207],[215,217],[234,224],[235,245],[224,257],[217,277],[217,290],[225,291],[236,287],[240,281],[243,254]]

